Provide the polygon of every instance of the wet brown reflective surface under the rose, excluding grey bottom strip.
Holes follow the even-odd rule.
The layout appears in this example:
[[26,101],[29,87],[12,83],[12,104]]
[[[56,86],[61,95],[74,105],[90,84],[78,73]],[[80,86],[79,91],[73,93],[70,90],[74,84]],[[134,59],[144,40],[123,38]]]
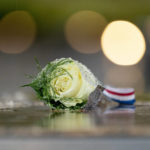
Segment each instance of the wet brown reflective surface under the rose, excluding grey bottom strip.
[[150,136],[150,105],[92,112],[52,112],[46,106],[0,110],[0,136]]

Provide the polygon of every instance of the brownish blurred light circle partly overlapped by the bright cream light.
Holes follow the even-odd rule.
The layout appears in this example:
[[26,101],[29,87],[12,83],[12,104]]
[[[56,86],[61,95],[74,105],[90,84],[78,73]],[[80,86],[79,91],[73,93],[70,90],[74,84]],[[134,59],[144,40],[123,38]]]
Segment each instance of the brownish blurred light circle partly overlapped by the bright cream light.
[[96,53],[100,50],[99,38],[106,24],[101,14],[80,11],[67,20],[65,36],[70,46],[80,53]]

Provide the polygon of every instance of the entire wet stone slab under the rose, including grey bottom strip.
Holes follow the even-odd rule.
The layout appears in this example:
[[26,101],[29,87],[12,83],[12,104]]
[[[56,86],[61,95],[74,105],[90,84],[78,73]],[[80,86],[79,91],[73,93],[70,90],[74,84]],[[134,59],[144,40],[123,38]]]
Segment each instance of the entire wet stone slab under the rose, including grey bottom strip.
[[149,150],[150,104],[52,112],[44,105],[0,110],[4,150]]

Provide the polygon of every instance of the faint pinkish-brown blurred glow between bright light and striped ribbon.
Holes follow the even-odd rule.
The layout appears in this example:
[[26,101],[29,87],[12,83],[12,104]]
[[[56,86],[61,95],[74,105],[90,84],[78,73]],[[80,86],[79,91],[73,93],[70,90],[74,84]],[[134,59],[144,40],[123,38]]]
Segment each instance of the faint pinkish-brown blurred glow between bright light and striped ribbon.
[[133,87],[138,92],[145,88],[144,75],[139,67],[109,67],[104,83],[115,87]]

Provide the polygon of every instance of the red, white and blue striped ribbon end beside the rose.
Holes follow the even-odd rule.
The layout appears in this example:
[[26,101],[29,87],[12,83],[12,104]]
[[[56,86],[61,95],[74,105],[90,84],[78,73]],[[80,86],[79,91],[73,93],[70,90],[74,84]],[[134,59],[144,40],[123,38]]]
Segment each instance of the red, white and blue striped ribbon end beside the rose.
[[120,104],[132,105],[135,103],[135,91],[133,88],[115,88],[106,86],[103,94]]

